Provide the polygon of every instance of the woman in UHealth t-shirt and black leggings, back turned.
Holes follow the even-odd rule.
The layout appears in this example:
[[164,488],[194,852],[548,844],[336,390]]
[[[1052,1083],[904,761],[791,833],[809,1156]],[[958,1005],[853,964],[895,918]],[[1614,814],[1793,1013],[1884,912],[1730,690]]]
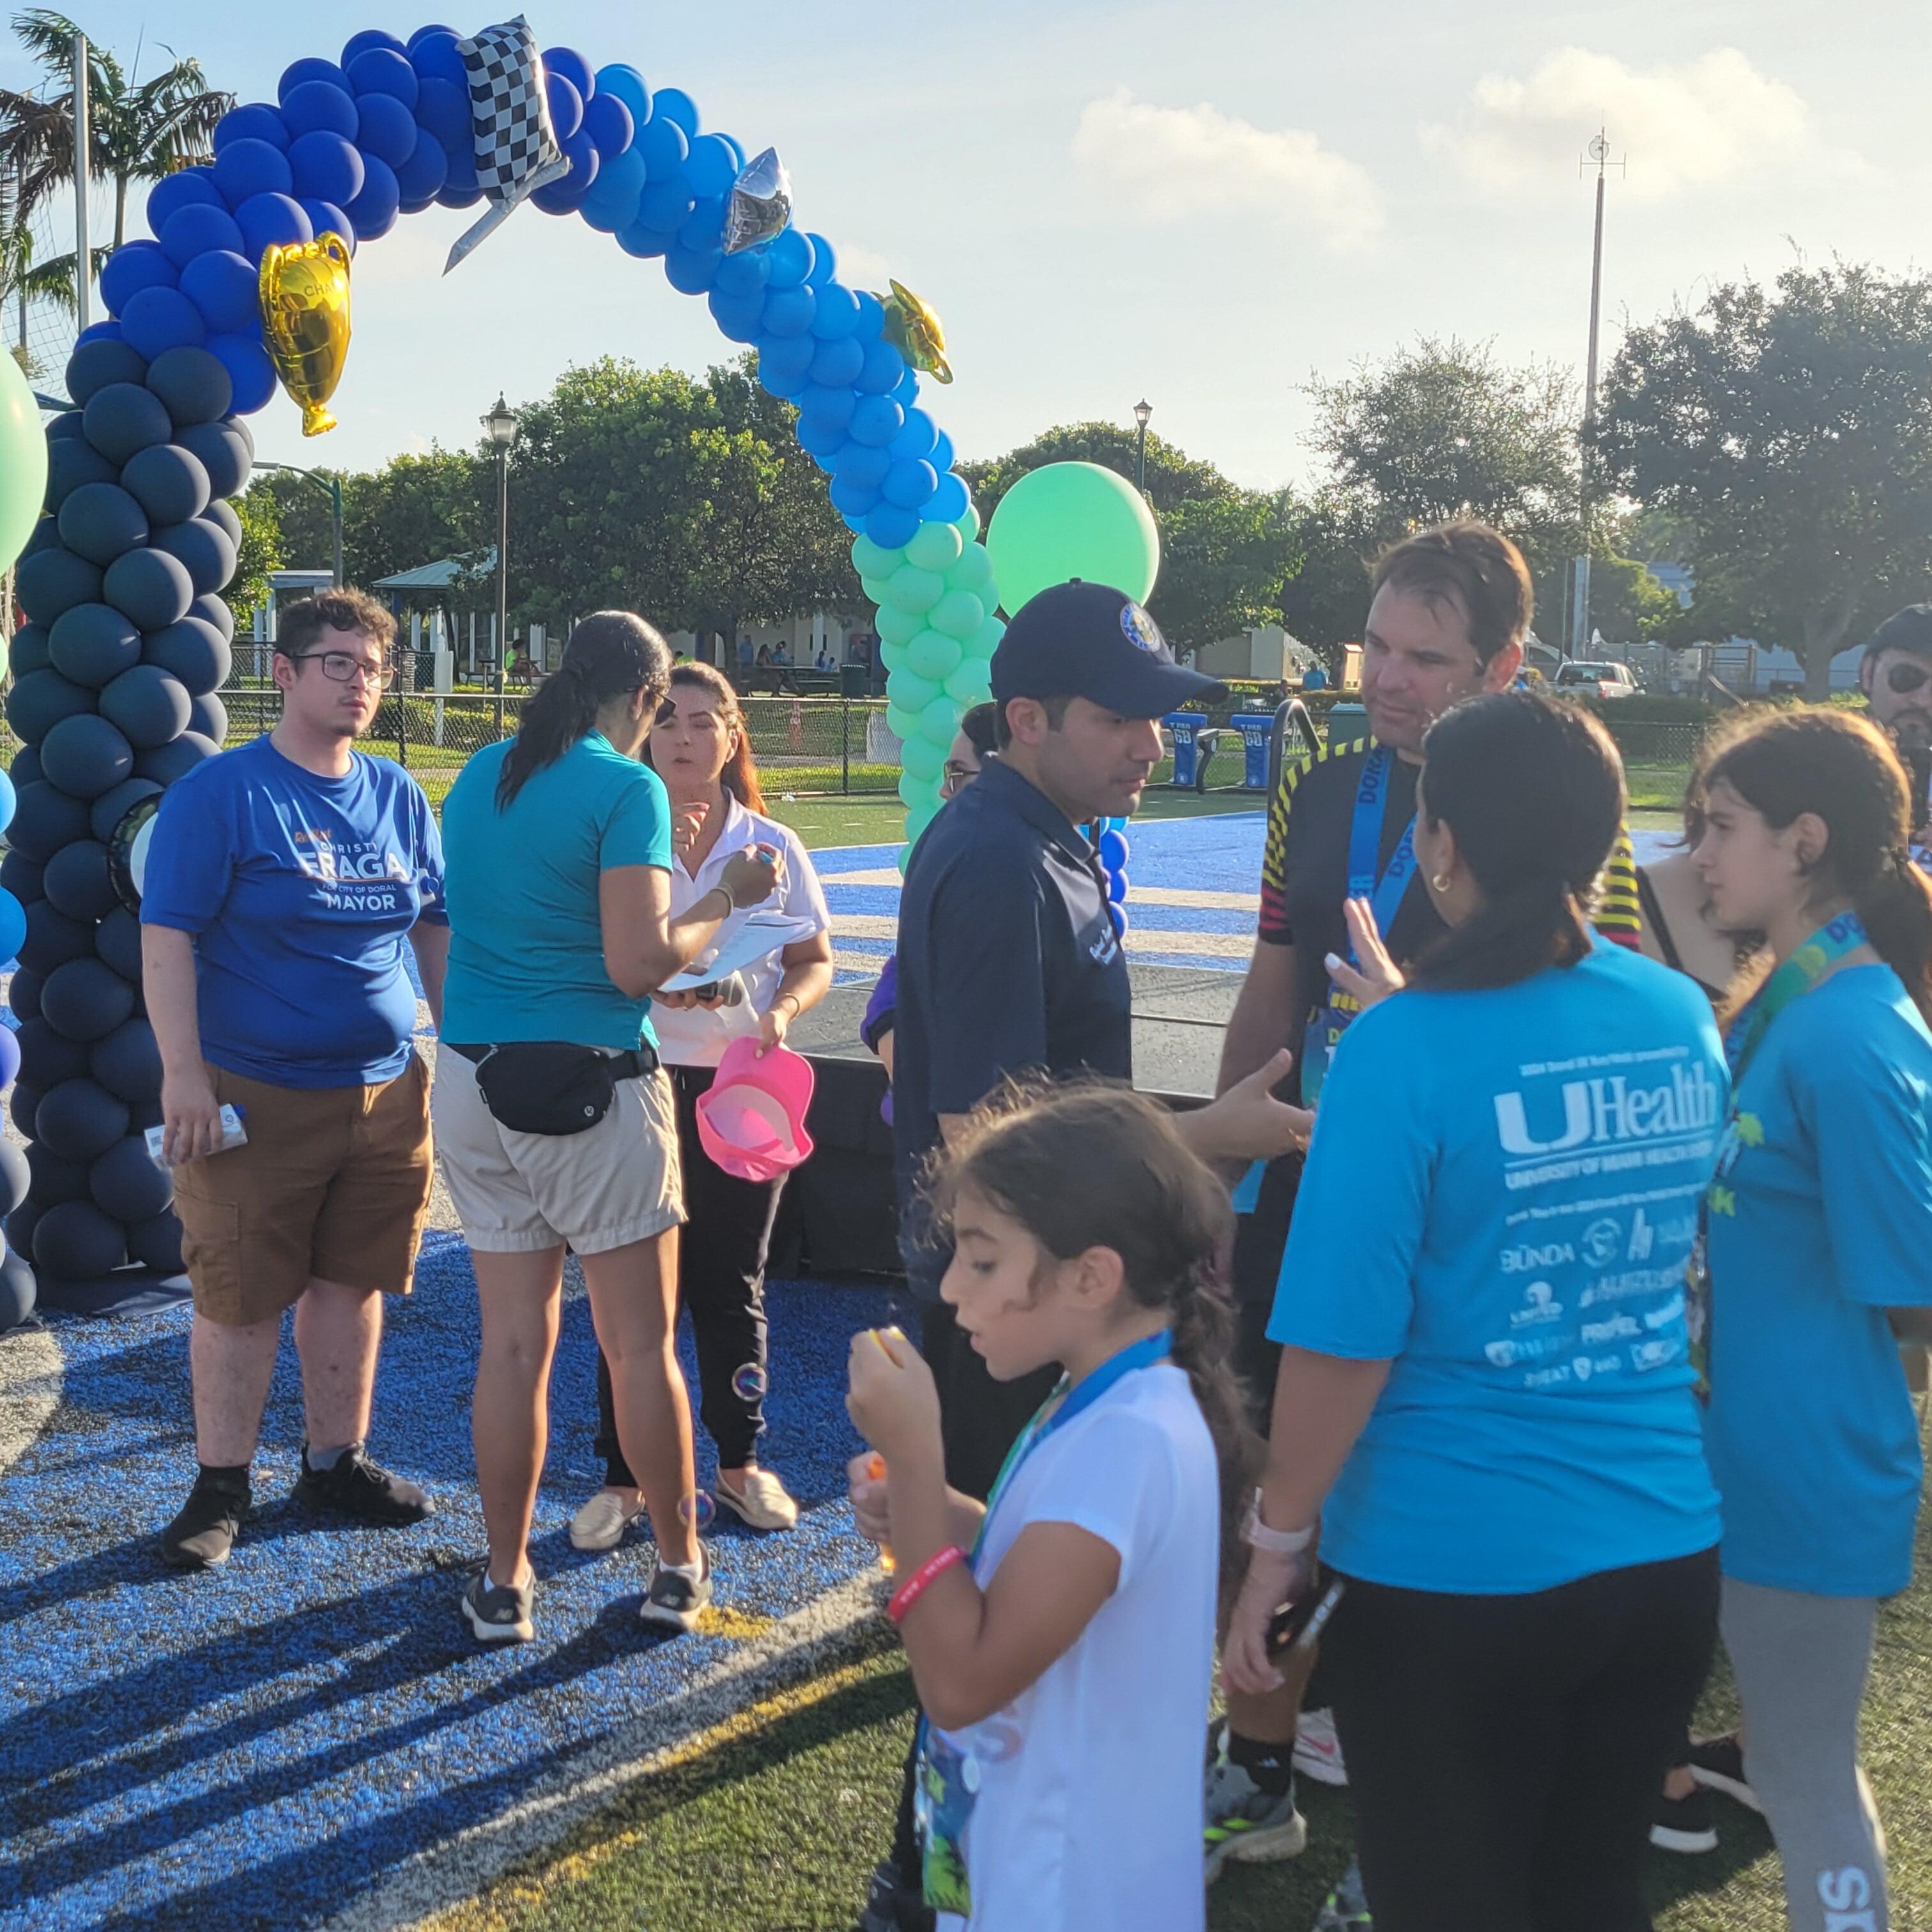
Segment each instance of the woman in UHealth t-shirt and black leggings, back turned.
[[1623,815],[1602,723],[1507,692],[1424,755],[1416,864],[1445,933],[1403,989],[1350,902],[1360,970],[1331,970],[1368,1010],[1281,1264],[1223,1673],[1281,1683],[1269,1621],[1321,1588],[1320,1524],[1376,1932],[1638,1932],[1716,1642],[1683,1275],[1723,1057],[1681,974],[1590,931]]

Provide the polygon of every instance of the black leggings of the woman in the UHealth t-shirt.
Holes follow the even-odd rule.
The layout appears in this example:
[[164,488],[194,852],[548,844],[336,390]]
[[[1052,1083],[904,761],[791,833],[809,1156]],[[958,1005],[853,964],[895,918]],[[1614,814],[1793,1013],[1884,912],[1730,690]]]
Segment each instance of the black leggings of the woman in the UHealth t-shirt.
[[1716,1636],[1716,1549],[1534,1596],[1350,1580],[1323,1658],[1376,1932],[1650,1932]]

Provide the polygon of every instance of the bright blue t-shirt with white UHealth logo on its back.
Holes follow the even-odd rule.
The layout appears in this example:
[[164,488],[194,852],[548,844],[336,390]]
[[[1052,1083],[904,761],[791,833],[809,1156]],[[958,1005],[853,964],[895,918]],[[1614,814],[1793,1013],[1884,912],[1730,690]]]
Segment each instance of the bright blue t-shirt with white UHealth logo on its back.
[[1349,1028],[1267,1325],[1391,1362],[1335,1569],[1503,1596],[1718,1542],[1683,1279],[1725,1092],[1704,995],[1602,939]]

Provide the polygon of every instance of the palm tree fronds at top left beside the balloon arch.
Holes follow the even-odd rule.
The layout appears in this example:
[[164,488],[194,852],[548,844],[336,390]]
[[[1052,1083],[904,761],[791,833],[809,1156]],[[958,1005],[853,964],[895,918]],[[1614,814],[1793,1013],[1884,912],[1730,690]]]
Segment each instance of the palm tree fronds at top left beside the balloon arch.
[[[46,75],[39,97],[0,89],[0,174],[14,176],[15,222],[25,222],[56,187],[75,178],[71,68],[79,27],[64,14],[31,8],[14,17],[14,33]],[[174,48],[164,52],[174,60]],[[135,66],[139,60],[135,50]],[[135,83],[106,48],[87,43],[87,176],[114,184],[112,247],[128,236],[129,182],[158,182],[176,168],[209,160],[214,124],[234,99],[207,85],[199,60],[174,60],[164,73]],[[62,261],[71,303],[73,257]],[[58,270],[60,263],[48,261],[35,274],[58,280]]]

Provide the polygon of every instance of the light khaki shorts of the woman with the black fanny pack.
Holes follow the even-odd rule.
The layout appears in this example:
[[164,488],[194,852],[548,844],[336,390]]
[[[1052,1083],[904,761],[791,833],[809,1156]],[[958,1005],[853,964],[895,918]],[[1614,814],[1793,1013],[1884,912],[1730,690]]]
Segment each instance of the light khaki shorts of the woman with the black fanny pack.
[[663,1068],[620,1080],[582,1134],[520,1134],[483,1105],[475,1066],[437,1055],[437,1153],[464,1238],[483,1254],[539,1254],[566,1240],[607,1254],[684,1219],[678,1111]]

